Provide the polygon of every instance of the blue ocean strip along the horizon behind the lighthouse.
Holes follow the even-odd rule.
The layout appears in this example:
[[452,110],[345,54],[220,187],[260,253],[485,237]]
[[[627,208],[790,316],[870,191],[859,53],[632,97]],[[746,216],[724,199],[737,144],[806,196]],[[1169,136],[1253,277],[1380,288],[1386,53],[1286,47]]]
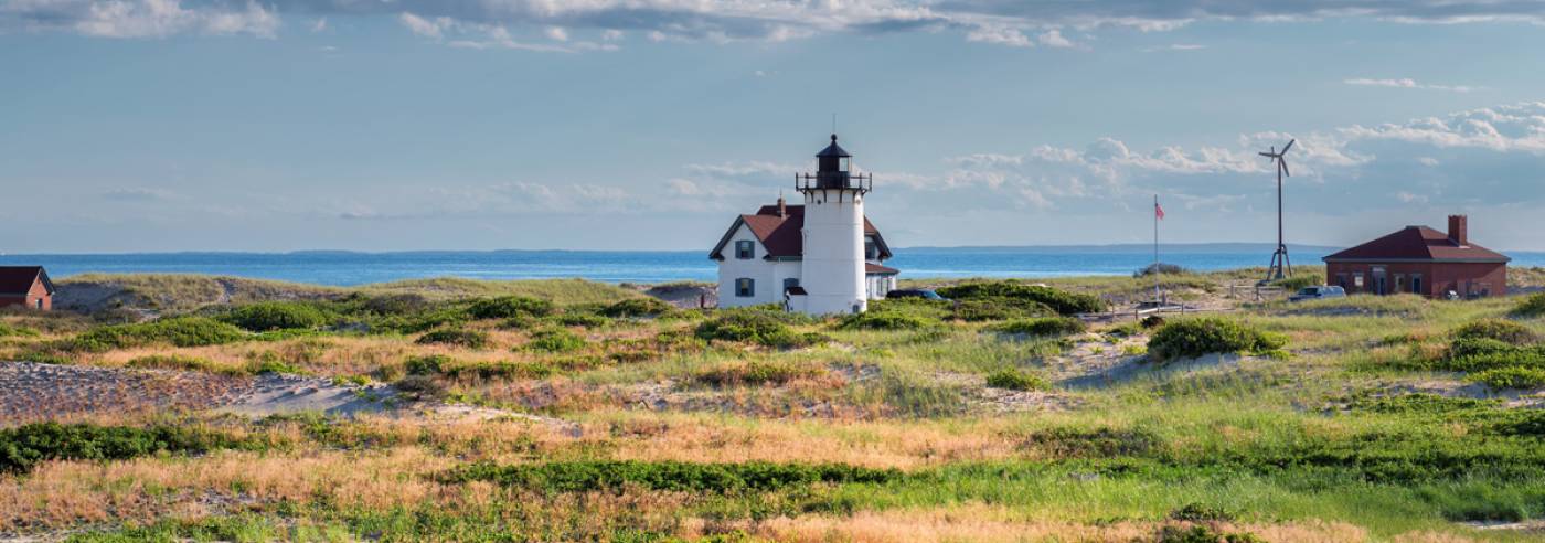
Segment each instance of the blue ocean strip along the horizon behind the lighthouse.
[[[1160,258],[1194,271],[1265,266],[1270,246],[1185,244]],[[1295,263],[1319,265],[1335,249],[1289,248]],[[913,248],[887,265],[902,278],[1125,275],[1153,261],[1153,248]],[[1513,252],[1514,266],[1545,266],[1545,252]],[[318,285],[363,285],[423,277],[555,278],[607,283],[712,282],[705,251],[417,251],[417,252],[158,252],[0,255],[0,265],[42,265],[54,278],[87,272],[213,274]]]

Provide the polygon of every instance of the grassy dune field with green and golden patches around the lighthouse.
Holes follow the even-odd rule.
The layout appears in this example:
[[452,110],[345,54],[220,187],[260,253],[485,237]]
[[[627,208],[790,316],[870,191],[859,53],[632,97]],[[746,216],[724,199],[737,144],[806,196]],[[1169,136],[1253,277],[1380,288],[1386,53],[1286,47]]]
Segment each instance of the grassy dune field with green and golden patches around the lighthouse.
[[[402,399],[355,418],[124,405],[5,421],[0,534],[1545,537],[1545,320],[1523,297],[1225,297],[1250,277],[1165,277],[1231,311],[1089,326],[1057,308],[1125,303],[1149,280],[1015,283],[823,320],[683,311],[584,282],[464,280],[255,283],[227,300],[198,278],[173,282],[188,299],[147,323],[6,314],[0,359],[297,373],[389,384]],[[170,282],[87,280],[162,294]],[[443,404],[474,416],[417,415]]]

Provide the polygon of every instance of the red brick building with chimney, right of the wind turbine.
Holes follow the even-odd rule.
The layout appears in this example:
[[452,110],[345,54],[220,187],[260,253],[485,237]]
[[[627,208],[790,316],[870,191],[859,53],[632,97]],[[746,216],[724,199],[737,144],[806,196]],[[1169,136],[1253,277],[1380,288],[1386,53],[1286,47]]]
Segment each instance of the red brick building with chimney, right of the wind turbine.
[[1508,258],[1469,243],[1465,215],[1449,215],[1448,232],[1426,226],[1329,255],[1326,278],[1350,292],[1475,299],[1508,294]]

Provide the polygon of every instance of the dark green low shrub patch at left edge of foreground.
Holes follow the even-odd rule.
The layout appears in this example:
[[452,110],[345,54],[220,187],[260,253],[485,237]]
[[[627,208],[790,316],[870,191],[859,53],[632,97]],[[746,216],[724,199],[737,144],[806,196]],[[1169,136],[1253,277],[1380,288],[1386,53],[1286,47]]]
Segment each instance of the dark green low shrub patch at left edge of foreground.
[[128,459],[158,452],[204,453],[239,442],[201,429],[42,422],[0,429],[0,472],[26,473],[49,459]]

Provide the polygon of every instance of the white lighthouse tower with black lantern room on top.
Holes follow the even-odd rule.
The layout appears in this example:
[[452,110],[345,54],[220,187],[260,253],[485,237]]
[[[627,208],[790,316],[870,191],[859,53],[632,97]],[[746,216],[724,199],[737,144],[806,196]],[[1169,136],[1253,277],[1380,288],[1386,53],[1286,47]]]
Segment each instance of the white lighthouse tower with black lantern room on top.
[[816,155],[814,175],[796,175],[794,187],[805,195],[805,255],[800,265],[803,300],[793,309],[808,314],[862,312],[864,289],[864,195],[873,178],[851,172],[853,155],[831,145]]

